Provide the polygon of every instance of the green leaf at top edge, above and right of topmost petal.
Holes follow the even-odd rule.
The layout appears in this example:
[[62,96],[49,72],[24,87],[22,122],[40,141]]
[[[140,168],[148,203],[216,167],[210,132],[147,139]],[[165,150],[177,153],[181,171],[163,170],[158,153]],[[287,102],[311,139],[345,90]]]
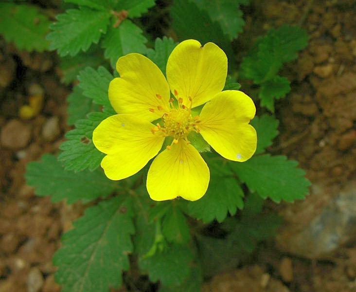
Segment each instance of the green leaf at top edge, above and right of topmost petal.
[[221,29],[230,40],[237,37],[245,25],[240,10],[240,3],[236,0],[193,0],[196,5],[208,12],[213,21],[217,21]]

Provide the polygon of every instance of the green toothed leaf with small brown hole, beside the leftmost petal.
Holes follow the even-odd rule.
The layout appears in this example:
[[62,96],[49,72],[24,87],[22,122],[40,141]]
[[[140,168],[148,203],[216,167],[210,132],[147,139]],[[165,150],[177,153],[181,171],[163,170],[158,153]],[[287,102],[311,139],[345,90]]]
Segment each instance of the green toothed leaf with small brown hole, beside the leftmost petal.
[[58,156],[58,160],[63,162],[66,170],[77,172],[88,168],[93,171],[99,167],[105,154],[95,148],[92,134],[100,122],[110,115],[106,112],[89,113],[88,119],[77,121],[75,129],[67,132],[68,141],[59,146],[63,152]]

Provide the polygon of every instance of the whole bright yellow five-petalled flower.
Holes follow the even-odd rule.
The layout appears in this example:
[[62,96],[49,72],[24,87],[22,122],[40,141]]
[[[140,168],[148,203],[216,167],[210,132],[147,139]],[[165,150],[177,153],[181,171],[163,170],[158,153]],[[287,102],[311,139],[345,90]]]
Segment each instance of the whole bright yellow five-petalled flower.
[[[249,125],[255,106],[241,91],[222,91],[228,60],[214,43],[202,47],[190,39],[178,44],[168,58],[168,83],[160,69],[140,54],[119,58],[116,69],[120,78],[110,82],[108,95],[119,114],[93,132],[94,145],[107,154],[101,166],[109,179],[137,173],[171,136],[172,144],[150,166],[148,193],[156,201],[177,197],[196,201],[208,188],[210,172],[189,143],[189,132],[200,133],[216,152],[233,161],[246,161],[255,152],[256,131]],[[202,104],[194,116],[191,109]],[[158,119],[160,123],[151,123]]]

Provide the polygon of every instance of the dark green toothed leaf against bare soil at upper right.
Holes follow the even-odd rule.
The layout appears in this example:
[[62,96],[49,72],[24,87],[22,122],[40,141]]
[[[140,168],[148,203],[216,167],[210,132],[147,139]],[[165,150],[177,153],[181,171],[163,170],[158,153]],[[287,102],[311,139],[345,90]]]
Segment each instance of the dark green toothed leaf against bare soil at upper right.
[[277,73],[283,63],[297,58],[298,51],[306,47],[308,35],[298,26],[283,25],[271,29],[267,36],[257,40],[241,64],[241,77],[252,79],[261,86],[261,106],[274,111],[274,100],[290,91],[289,81]]

